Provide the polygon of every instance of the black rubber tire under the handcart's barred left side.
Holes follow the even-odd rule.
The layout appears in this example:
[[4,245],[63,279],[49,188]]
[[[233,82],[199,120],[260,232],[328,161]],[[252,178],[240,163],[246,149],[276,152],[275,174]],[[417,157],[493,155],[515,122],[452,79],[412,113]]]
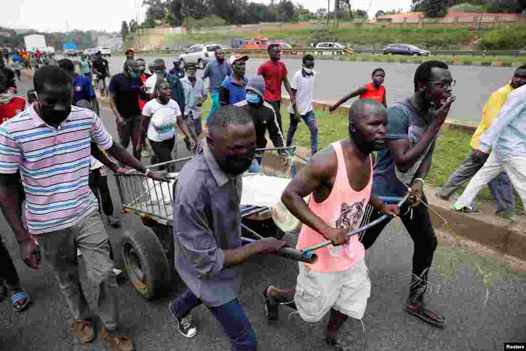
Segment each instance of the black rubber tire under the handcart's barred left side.
[[120,247],[131,284],[145,299],[156,297],[169,279],[170,269],[154,231],[145,226],[136,231],[126,230]]

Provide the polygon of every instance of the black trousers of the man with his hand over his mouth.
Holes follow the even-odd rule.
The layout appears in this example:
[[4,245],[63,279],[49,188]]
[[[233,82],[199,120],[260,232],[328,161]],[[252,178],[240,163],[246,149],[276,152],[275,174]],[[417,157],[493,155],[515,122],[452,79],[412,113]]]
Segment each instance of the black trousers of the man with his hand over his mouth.
[[[425,197],[422,198],[422,200],[426,204],[428,203]],[[406,214],[407,209],[407,206],[402,206],[400,209],[400,218],[414,243],[413,270],[409,296],[412,299],[421,299],[424,293],[426,293],[429,269],[433,262],[433,254],[438,242],[427,207],[422,204],[414,207],[412,219],[411,212]],[[371,216],[366,222],[372,222],[380,216],[376,209],[372,209]],[[366,250],[375,243],[376,238],[378,238],[383,228],[385,228],[389,222],[390,219],[367,229],[365,233],[361,234],[361,242]],[[362,224],[365,225],[367,223]]]

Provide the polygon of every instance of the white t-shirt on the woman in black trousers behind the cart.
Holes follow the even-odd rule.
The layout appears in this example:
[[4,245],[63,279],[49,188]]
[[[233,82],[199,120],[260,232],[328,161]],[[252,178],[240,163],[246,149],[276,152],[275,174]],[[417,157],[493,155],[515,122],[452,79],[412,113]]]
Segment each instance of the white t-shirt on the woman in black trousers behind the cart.
[[181,115],[181,109],[173,99],[166,105],[161,105],[157,99],[153,99],[144,105],[143,115],[151,116],[148,138],[154,142],[162,142],[175,136],[177,116]]

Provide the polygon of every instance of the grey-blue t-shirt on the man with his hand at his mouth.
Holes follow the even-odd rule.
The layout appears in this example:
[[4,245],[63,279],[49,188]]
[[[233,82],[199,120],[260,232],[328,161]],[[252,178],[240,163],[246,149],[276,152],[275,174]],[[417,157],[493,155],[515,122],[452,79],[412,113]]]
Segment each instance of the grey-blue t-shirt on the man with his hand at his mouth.
[[[418,143],[426,132],[432,116],[429,112],[418,111],[410,99],[395,102],[387,109],[387,139],[409,139],[409,147]],[[422,162],[432,157],[434,141],[428,145],[418,160],[408,170],[398,169],[389,149],[378,152],[374,169],[373,194],[376,196],[403,196]],[[425,178],[426,174],[419,174]]]

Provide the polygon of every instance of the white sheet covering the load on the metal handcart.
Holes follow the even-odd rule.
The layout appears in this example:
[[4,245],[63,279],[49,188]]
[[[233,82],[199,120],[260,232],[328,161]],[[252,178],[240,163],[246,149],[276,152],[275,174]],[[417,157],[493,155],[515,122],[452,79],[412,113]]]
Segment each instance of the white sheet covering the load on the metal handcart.
[[[177,173],[171,175],[178,175]],[[287,207],[281,202],[281,194],[290,183],[291,179],[271,177],[262,174],[249,174],[242,177],[243,191],[241,195],[241,205],[250,206],[267,206],[270,207],[272,219],[285,232],[294,232],[299,229],[299,220],[292,215]],[[157,205],[159,201],[161,205],[165,205],[169,213],[171,213],[171,189],[175,184],[175,180],[170,180],[170,183],[154,182],[147,178],[143,184],[145,189],[148,189],[151,194],[149,205]],[[308,198],[306,198],[308,200]],[[155,209],[155,207],[154,207]]]

